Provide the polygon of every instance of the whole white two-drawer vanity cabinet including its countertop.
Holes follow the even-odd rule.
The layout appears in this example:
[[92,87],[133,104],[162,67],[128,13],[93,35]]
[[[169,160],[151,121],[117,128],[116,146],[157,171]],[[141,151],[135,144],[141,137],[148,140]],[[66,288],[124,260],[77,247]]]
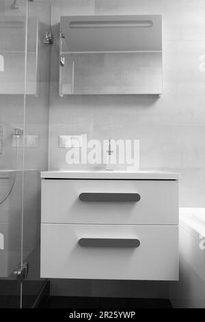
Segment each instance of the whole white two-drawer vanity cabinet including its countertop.
[[178,173],[42,173],[41,277],[178,280]]

